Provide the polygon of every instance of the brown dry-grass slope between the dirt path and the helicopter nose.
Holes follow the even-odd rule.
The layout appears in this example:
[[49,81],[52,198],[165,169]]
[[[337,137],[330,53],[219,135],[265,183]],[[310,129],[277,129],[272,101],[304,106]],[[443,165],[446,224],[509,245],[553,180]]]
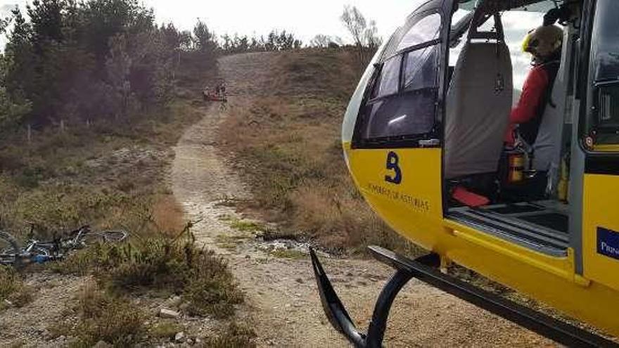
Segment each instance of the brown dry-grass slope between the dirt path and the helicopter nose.
[[274,96],[237,109],[220,131],[251,183],[253,208],[333,250],[408,248],[366,205],[343,160],[340,124],[358,78],[352,56],[283,53],[273,66]]

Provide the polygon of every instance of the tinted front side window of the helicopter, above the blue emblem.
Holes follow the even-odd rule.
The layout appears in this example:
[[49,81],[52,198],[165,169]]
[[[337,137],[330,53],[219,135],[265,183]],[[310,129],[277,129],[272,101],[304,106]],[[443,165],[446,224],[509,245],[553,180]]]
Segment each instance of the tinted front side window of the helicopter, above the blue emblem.
[[357,146],[415,141],[434,128],[441,16],[430,13],[409,26],[395,54],[377,65],[359,112]]

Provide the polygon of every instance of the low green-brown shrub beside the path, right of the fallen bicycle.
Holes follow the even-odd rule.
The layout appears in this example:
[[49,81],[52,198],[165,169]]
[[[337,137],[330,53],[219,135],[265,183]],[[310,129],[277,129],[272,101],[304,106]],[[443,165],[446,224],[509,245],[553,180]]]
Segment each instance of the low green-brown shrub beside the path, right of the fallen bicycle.
[[156,291],[182,294],[189,314],[226,318],[243,302],[234,277],[221,257],[191,243],[148,239],[125,245],[99,244],[53,266],[61,273],[94,274],[113,293]]

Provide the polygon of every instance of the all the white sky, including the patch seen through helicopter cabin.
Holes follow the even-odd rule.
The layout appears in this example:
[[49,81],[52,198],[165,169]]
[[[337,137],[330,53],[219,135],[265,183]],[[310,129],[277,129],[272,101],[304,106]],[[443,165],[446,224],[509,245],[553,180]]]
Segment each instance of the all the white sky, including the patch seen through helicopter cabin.
[[[158,22],[174,22],[180,29],[191,29],[198,18],[217,34],[267,34],[272,29],[295,33],[304,42],[316,34],[338,36],[348,41],[339,17],[345,5],[357,6],[368,19],[376,20],[378,33],[389,37],[404,18],[425,0],[143,0],[154,8]],[[0,0],[0,16],[8,15],[15,5],[27,0]],[[31,1],[30,1],[31,2]],[[507,42],[515,67],[514,84],[522,85],[530,58],[519,53],[519,45],[528,30],[541,24],[535,13],[513,12],[504,15]],[[6,39],[0,39],[4,47]]]

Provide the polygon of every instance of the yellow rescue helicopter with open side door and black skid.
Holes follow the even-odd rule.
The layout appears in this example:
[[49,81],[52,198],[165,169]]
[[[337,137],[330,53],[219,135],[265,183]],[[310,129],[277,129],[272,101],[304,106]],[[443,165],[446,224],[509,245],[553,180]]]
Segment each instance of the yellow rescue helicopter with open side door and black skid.
[[[547,138],[510,148],[509,11],[545,13],[544,25],[563,31],[540,125]],[[410,259],[369,247],[395,273],[362,332],[310,250],[326,316],[352,344],[381,347],[393,300],[418,278],[561,344],[618,347],[444,271],[459,264],[619,335],[615,18],[616,0],[429,0],[378,49],[345,112],[345,162],[371,208],[430,253]],[[527,194],[534,181],[542,193]]]

